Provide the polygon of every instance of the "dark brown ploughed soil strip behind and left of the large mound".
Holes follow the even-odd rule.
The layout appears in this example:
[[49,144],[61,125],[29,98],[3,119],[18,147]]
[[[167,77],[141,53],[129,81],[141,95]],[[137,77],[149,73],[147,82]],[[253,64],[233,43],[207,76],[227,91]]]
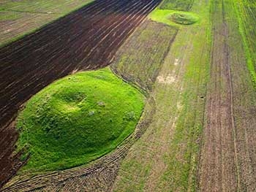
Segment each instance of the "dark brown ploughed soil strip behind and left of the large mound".
[[0,188],[20,168],[12,156],[20,107],[54,80],[110,64],[159,0],[94,1],[0,49]]

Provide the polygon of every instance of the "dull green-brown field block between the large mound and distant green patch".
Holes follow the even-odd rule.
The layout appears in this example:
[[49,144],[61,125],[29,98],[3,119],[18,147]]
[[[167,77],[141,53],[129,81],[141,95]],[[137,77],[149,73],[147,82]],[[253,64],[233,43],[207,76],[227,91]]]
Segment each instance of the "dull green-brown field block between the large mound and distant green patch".
[[150,91],[176,33],[176,28],[146,20],[118,50],[111,68],[144,91]]

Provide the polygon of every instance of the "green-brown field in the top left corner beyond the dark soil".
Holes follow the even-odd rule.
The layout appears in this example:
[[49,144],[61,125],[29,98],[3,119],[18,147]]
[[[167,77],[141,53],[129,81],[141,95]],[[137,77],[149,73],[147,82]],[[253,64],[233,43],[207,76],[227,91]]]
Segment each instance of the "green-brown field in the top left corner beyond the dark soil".
[[[31,34],[94,0],[20,0],[0,2],[0,47]],[[10,28],[10,23],[12,27]]]

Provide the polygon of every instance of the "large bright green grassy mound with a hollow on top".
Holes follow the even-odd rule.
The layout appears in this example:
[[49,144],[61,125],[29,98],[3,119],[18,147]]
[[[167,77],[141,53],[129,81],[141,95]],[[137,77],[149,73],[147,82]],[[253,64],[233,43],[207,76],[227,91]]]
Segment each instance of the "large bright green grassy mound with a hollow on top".
[[110,152],[134,131],[143,105],[143,94],[110,69],[53,82],[18,115],[18,147],[29,153],[21,172],[66,169]]

